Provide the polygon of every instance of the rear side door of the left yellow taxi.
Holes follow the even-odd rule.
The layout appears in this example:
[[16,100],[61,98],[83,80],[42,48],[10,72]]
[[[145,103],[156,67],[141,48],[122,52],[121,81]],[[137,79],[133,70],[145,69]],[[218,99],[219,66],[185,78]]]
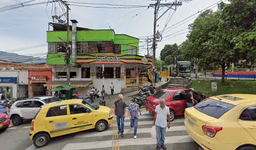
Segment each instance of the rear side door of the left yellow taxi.
[[63,104],[49,108],[45,117],[45,126],[51,136],[70,133],[71,123],[67,105]]

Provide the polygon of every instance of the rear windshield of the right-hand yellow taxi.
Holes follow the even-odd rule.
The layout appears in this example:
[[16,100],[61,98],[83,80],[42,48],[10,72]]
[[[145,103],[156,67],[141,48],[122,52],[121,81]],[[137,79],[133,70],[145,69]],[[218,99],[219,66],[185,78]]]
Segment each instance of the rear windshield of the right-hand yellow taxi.
[[235,105],[228,104],[222,101],[216,101],[215,99],[206,99],[195,106],[195,109],[213,118],[221,118],[223,114],[234,108]]

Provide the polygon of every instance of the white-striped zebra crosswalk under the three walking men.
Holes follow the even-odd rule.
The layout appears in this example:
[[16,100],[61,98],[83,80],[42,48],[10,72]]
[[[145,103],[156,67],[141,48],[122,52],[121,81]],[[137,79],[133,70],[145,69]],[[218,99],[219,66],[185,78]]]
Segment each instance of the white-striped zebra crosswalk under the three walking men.
[[[142,111],[142,116],[139,116],[139,123],[137,129],[137,139],[133,138],[133,131],[130,127],[129,118],[125,118],[124,123],[124,138],[117,136],[117,127],[114,121],[106,131],[97,132],[95,130],[83,131],[73,134],[72,137],[68,137],[62,146],[58,146],[61,150],[82,150],[82,149],[98,149],[98,150],[151,150],[156,149],[156,139],[151,138],[151,128],[153,116],[147,114],[146,111]],[[115,134],[115,135],[114,135]],[[61,139],[61,137],[60,137]],[[53,141],[48,146],[40,149],[51,149],[49,146],[53,146],[56,141]],[[171,128],[166,129],[165,143],[167,148],[175,150],[185,149],[198,149],[198,145],[190,138],[186,133],[184,127],[184,118],[175,119],[171,123]],[[29,146],[27,150],[35,149],[33,146]]]

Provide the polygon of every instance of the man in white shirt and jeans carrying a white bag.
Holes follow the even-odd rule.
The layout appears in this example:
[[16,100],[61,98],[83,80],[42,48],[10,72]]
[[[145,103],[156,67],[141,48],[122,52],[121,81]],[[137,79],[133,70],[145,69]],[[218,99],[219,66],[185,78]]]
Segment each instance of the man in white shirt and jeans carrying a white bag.
[[[160,150],[163,148],[166,150],[166,146],[164,145],[166,127],[168,129],[171,127],[171,119],[170,119],[170,111],[169,108],[164,104],[165,100],[160,99],[160,104],[156,106],[155,115],[154,115],[154,123],[156,125],[156,149]],[[168,120],[168,124],[167,124]]]

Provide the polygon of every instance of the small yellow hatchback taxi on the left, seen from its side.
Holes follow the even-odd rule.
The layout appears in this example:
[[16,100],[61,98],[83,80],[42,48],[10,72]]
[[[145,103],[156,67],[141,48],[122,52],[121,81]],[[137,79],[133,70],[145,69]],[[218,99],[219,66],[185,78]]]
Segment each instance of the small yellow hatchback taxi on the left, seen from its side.
[[110,108],[87,103],[82,99],[58,101],[42,106],[31,122],[30,139],[37,148],[50,138],[87,129],[105,131],[112,124]]

